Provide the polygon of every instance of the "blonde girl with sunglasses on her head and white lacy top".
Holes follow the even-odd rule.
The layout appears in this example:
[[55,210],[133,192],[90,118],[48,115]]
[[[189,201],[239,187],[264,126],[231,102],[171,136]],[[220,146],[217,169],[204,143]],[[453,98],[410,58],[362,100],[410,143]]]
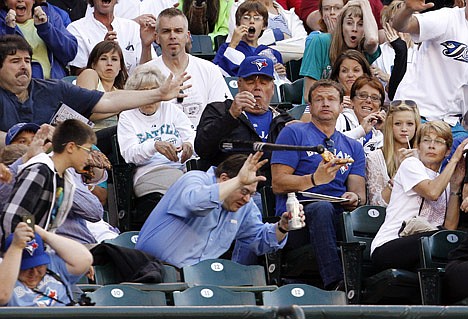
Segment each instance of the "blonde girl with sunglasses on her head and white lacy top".
[[384,144],[366,161],[368,204],[386,207],[400,163],[414,155],[413,145],[421,117],[413,101],[393,101],[383,128]]

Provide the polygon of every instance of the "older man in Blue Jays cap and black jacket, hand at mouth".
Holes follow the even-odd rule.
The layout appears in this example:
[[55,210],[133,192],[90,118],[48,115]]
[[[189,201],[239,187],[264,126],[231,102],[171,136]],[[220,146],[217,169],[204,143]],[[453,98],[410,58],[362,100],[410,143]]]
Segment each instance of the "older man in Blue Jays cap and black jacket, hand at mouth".
[[[270,107],[275,90],[273,72],[274,63],[271,59],[258,55],[247,57],[239,66],[239,93],[234,101],[207,105],[195,137],[195,151],[200,156],[202,169],[217,166],[232,154],[219,149],[221,140],[228,138],[274,143],[286,123],[293,120],[287,113],[279,113]],[[266,183],[269,184],[269,164],[263,166],[261,174],[267,178]],[[265,183],[259,183],[257,189],[264,185]],[[254,200],[261,208],[260,196]],[[255,263],[256,256],[244,251],[245,249],[236,246],[233,259],[244,264]]]

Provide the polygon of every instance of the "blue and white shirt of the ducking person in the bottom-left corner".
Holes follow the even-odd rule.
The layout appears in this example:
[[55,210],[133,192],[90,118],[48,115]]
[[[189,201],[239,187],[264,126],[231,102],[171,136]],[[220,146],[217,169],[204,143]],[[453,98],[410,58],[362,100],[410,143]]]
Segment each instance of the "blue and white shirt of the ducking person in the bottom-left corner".
[[[46,295],[44,296],[26,287],[22,282],[17,280],[11,299],[7,304],[8,307],[63,307],[71,301],[68,297],[67,289],[70,296],[73,297],[71,285],[78,282],[81,275],[75,276],[69,274],[65,261],[62,258],[57,256],[54,252],[47,253],[50,256],[50,264],[47,268],[58,274],[63,282],[46,274],[36,287],[38,291]],[[52,296],[64,304],[47,296]]]

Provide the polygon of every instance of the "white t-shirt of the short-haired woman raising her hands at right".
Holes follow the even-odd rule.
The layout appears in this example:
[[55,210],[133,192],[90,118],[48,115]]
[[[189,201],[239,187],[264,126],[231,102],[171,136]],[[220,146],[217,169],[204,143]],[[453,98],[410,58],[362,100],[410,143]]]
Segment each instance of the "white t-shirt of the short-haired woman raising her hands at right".
[[[437,172],[425,167],[416,157],[409,157],[401,163],[393,179],[393,190],[385,221],[372,241],[371,254],[377,247],[399,238],[398,231],[403,221],[419,214],[423,197],[418,195],[413,187],[424,180],[432,180],[438,175]],[[433,209],[425,210],[425,214],[421,213],[421,216],[426,217],[434,226],[443,224],[445,219],[447,191],[448,188],[437,201],[424,199],[424,204],[429,204]]]

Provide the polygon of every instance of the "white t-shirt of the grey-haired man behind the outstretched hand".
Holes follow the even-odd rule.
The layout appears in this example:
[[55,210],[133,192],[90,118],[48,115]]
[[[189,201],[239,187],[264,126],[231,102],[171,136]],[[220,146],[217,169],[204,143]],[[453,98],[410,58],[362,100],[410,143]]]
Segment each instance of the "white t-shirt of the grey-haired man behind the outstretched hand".
[[[182,103],[177,103],[177,106],[196,128],[207,104],[232,99],[232,95],[217,65],[190,54],[188,56],[189,63],[186,71],[192,78],[184,84],[192,84],[192,87],[185,91],[188,96]],[[162,56],[148,63],[157,66],[165,76],[171,73],[171,70],[164,64]],[[176,100],[174,99],[173,102],[175,103]]]

